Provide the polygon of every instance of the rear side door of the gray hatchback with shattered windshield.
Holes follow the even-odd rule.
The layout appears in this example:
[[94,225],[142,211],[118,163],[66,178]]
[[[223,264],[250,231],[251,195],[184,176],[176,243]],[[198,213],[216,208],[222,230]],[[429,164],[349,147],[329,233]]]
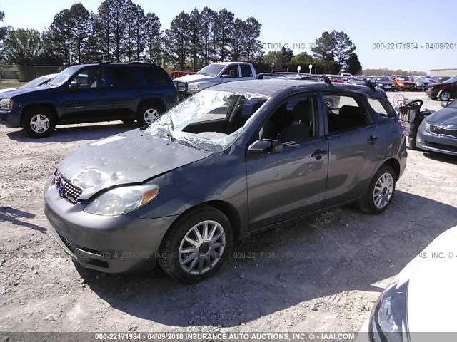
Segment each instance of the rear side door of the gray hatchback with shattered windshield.
[[383,152],[378,126],[371,118],[363,95],[338,91],[322,93],[339,98],[326,107],[328,180],[326,207],[350,202],[363,193]]

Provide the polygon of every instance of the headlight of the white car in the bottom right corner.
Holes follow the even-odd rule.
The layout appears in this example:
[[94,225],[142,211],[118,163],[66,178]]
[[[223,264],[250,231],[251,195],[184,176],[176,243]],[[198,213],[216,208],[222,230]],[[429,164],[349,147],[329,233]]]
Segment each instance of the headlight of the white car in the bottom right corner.
[[401,286],[398,282],[391,284],[376,302],[371,316],[371,331],[383,336],[381,341],[409,341],[406,312],[408,284],[408,281]]

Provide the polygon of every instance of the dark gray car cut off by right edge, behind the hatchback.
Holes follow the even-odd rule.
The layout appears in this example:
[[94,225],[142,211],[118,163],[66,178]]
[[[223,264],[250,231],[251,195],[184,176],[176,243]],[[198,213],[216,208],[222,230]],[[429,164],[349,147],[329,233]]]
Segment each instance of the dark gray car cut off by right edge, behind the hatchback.
[[428,115],[417,133],[421,150],[457,155],[457,100],[441,103],[446,108]]

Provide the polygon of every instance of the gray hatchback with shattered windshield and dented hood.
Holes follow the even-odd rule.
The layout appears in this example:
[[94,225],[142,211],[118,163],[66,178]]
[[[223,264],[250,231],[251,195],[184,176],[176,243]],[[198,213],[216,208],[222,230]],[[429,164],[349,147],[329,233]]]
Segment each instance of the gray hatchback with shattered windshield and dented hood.
[[149,126],[74,151],[46,184],[44,210],[82,266],[121,272],[158,261],[195,282],[219,269],[234,242],[281,222],[351,202],[383,212],[406,156],[383,90],[224,83]]

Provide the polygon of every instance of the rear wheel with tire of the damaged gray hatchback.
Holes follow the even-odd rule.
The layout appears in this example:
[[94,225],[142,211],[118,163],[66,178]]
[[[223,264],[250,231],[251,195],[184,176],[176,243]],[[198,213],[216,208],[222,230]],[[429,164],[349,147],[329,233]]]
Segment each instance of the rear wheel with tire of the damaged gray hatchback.
[[392,202],[395,193],[396,175],[390,166],[383,166],[376,172],[368,191],[358,202],[363,212],[381,214]]

